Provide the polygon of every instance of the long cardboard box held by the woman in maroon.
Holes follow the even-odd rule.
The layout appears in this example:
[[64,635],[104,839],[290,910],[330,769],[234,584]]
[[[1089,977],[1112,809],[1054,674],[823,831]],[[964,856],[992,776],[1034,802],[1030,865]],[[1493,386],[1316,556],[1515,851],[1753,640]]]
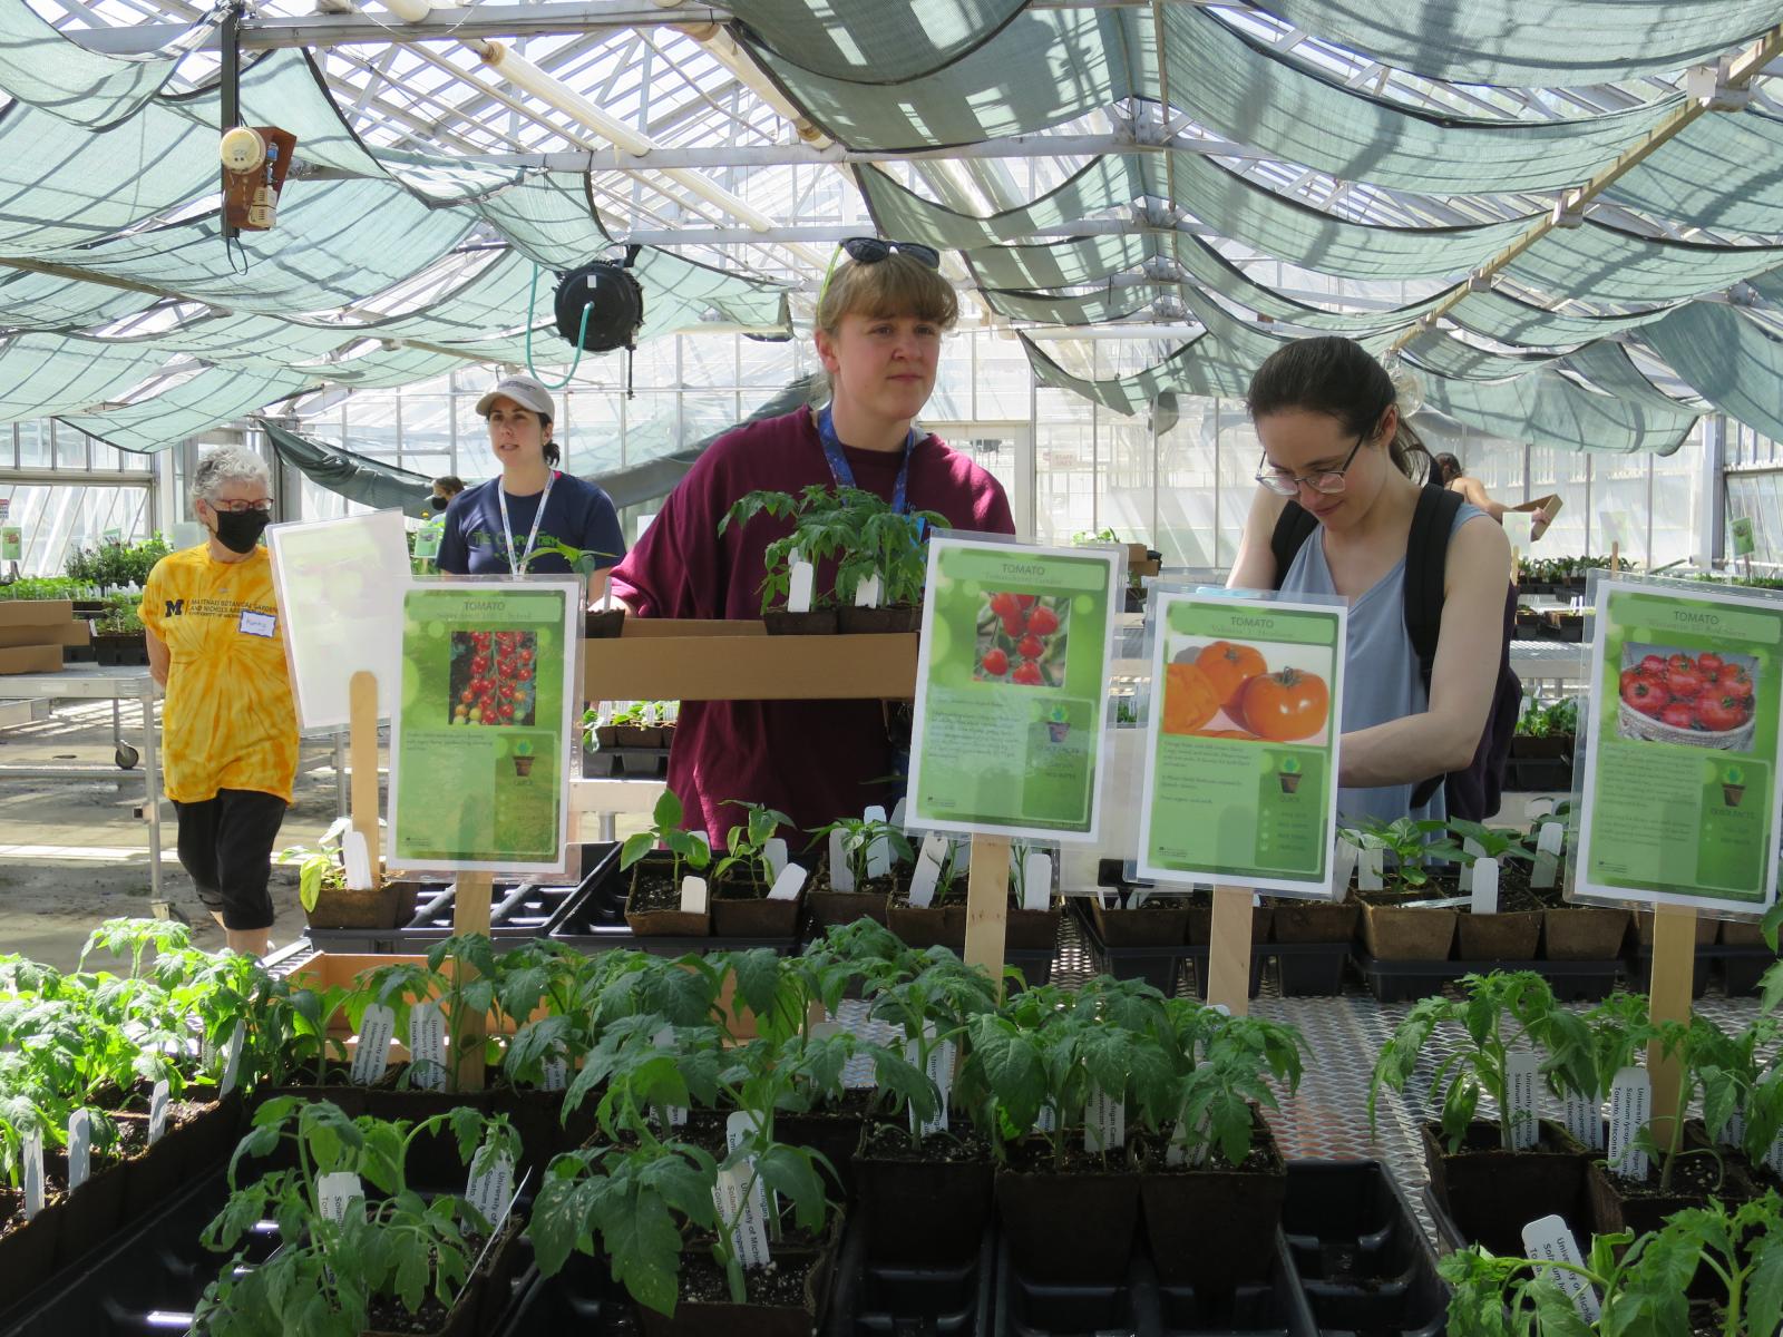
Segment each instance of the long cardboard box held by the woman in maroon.
[[583,699],[900,699],[916,692],[916,640],[915,633],[768,636],[760,622],[626,619],[617,640],[583,642]]

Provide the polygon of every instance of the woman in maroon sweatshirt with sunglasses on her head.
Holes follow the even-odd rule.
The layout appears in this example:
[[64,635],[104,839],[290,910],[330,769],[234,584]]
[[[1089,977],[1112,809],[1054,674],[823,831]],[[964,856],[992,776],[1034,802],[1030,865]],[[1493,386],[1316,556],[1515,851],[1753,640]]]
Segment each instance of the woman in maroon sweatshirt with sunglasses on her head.
[[[940,257],[877,237],[842,250],[813,332],[831,403],[742,426],[699,456],[613,570],[613,594],[635,615],[761,615],[763,556],[792,522],[758,515],[719,533],[731,504],[758,488],[859,487],[899,508],[938,512],[954,529],[1015,533],[1002,485],[911,426],[934,390],[941,335],[959,316]],[[877,701],[688,701],[669,788],[686,804],[688,827],[715,845],[742,820],[727,799],[777,808],[806,831],[868,804],[890,809],[886,717]]]

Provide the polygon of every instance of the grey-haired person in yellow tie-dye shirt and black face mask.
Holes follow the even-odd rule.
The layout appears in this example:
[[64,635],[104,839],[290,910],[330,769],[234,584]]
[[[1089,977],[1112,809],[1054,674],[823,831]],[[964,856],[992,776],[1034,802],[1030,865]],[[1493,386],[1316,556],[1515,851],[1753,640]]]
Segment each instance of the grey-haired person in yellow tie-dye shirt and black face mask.
[[180,865],[237,952],[271,947],[273,841],[298,772],[298,711],[260,533],[271,476],[225,446],[198,462],[203,544],[155,563],[143,586],[148,672],[168,690],[162,767]]

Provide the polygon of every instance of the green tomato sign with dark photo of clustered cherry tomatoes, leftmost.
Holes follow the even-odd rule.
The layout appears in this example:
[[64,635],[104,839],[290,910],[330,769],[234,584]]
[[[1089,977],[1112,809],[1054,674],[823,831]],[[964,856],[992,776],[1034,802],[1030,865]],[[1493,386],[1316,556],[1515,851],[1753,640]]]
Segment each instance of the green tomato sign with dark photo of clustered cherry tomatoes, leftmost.
[[556,872],[578,581],[415,585],[390,747],[390,863]]

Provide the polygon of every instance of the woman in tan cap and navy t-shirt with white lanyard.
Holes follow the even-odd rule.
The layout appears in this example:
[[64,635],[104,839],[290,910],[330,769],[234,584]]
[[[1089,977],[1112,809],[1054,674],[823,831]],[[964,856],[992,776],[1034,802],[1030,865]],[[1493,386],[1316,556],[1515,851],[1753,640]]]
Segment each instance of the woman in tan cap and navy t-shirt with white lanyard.
[[505,376],[476,401],[501,474],[465,488],[446,510],[439,569],[455,576],[587,572],[588,599],[626,554],[613,501],[560,472],[551,394],[531,376]]

